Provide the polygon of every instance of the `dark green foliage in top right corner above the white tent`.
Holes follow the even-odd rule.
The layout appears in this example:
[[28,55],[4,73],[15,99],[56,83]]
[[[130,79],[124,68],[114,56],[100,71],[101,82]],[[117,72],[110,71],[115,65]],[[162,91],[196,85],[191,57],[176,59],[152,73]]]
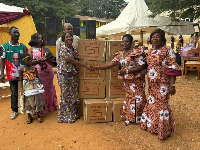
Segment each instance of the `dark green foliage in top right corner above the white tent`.
[[153,17],[168,12],[173,20],[180,18],[197,19],[200,17],[200,0],[147,0]]

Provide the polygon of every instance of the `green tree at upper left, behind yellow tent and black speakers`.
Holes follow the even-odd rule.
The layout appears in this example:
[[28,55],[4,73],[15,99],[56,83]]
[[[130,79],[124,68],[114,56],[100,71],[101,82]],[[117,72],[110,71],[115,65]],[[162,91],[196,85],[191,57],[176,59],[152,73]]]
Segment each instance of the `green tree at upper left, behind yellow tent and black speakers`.
[[0,0],[1,3],[27,8],[32,12],[37,31],[45,35],[45,17],[55,18],[57,34],[62,32],[62,19],[76,15],[76,0]]

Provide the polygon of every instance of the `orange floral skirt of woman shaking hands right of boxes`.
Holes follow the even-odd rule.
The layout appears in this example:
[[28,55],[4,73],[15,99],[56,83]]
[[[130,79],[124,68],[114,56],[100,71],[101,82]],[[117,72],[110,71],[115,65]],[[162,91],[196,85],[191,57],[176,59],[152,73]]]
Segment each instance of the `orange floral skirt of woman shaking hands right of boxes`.
[[124,80],[126,100],[124,101],[122,119],[140,123],[142,112],[146,104],[145,78],[138,80]]

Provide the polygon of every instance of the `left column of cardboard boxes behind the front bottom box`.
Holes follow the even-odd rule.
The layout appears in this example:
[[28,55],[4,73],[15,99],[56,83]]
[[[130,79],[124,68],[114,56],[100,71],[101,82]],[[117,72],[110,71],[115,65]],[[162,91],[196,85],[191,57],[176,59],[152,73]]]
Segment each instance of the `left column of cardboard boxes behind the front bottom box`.
[[[105,64],[106,42],[96,40],[79,40],[78,53],[80,61],[91,66]],[[86,68],[80,68],[79,97],[81,102],[80,115],[83,115],[83,107],[87,100],[105,100],[105,70],[90,72]],[[86,100],[87,99],[87,100]],[[94,106],[92,106],[94,108]],[[90,113],[88,114],[90,115]],[[101,118],[102,119],[102,118]],[[97,118],[98,120],[98,118]]]

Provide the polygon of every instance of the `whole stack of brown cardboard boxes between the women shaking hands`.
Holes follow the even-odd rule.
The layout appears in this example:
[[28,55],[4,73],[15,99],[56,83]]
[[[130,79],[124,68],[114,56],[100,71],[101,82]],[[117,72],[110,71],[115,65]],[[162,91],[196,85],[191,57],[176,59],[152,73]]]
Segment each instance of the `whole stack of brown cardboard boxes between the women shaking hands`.
[[[113,54],[122,50],[121,41],[79,40],[78,46],[80,61],[92,66],[109,63]],[[113,120],[120,120],[125,91],[118,70],[118,66],[92,72],[80,68],[80,112],[85,123],[112,121],[112,111]]]

